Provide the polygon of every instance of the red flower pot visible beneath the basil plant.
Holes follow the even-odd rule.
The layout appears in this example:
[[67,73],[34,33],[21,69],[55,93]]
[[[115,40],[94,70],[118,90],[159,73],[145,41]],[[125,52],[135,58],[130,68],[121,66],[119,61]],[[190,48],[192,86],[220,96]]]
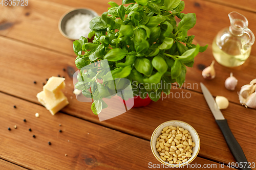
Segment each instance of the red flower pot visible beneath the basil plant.
[[[134,99],[134,105],[133,105],[133,99]],[[151,103],[151,99],[148,96],[148,94],[146,95],[145,99],[141,99],[139,95],[135,96],[133,99],[129,99],[127,101],[122,100],[122,98],[119,97],[119,100],[124,103],[127,107],[142,107],[142,106],[147,106]]]

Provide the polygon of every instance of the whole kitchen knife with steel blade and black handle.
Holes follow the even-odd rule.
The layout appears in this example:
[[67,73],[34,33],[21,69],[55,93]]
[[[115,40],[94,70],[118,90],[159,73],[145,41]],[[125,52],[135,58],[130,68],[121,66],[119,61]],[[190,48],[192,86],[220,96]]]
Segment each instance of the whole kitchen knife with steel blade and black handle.
[[223,114],[218,109],[217,104],[216,104],[214,98],[212,97],[210,91],[205,87],[205,85],[203,83],[200,83],[200,85],[201,85],[201,89],[204,94],[204,98],[205,98],[212,114],[215,117],[216,123],[218,124],[218,126],[220,127],[220,129],[222,131],[222,134],[227,142],[228,148],[231,151],[234,159],[236,159],[236,161],[239,163],[239,165],[242,166],[242,167],[240,166],[241,169],[251,169],[240,144],[238,143],[236,138],[234,138],[234,135],[232,134],[232,132],[227,124],[227,119],[224,118]]

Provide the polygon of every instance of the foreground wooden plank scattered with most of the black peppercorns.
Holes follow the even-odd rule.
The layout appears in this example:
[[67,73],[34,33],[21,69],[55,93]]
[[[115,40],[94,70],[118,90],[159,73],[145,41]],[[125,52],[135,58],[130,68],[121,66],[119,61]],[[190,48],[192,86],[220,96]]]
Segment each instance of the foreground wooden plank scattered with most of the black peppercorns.
[[[0,158],[20,166],[29,169],[147,169],[149,162],[158,164],[150,141],[67,114],[52,116],[42,106],[7,94],[0,93],[0,103]],[[36,112],[40,117],[35,117]],[[193,163],[215,164],[200,157]]]

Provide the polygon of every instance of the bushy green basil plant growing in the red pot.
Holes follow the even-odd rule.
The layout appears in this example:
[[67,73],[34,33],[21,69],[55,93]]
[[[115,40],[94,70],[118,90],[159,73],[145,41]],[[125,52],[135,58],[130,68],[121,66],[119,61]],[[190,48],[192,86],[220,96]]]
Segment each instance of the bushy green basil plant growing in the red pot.
[[[114,80],[129,79],[134,95],[144,99],[148,94],[153,101],[162,91],[169,94],[172,83],[181,86],[186,67],[193,67],[194,58],[207,48],[193,44],[195,36],[187,35],[196,14],[182,13],[180,0],[123,0],[120,6],[109,5],[108,12],[90,21],[92,42],[84,37],[73,42],[77,68],[107,59]],[[84,79],[95,79],[97,72],[88,72],[81,72]],[[110,89],[108,83],[102,85]],[[86,93],[91,96],[90,90]]]

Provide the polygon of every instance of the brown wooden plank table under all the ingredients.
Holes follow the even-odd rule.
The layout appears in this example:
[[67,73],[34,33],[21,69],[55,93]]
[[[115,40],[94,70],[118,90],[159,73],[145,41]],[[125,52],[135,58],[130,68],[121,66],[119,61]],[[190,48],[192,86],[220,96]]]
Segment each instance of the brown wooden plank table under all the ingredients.
[[[190,93],[190,99],[170,97],[99,122],[91,111],[91,103],[75,99],[72,79],[62,70],[68,66],[75,68],[75,55],[72,41],[58,31],[58,20],[73,7],[87,7],[101,14],[107,10],[108,2],[29,0],[26,7],[0,6],[1,169],[148,169],[150,162],[158,163],[150,148],[151,134],[158,125],[173,119],[190,124],[199,133],[201,149],[193,164],[200,164],[201,168],[208,164],[206,169],[213,169],[216,164],[217,169],[222,169],[220,164],[224,163],[224,168],[232,169],[226,165],[235,160],[204,100],[199,82],[214,96],[228,98],[230,105],[222,112],[248,161],[256,163],[256,110],[241,106],[237,94],[241,86],[256,78],[255,45],[242,66],[226,68],[216,63],[214,80],[206,81],[201,76],[202,69],[214,60],[212,40],[218,31],[229,26],[229,12],[245,15],[249,28],[256,33],[256,2],[185,0],[183,12],[197,15],[197,24],[188,34],[196,35],[195,41],[201,45],[209,45],[205,53],[196,57],[194,67],[188,68],[186,86],[172,90],[174,94]],[[121,4],[121,0],[115,2]],[[230,72],[239,80],[235,91],[224,87]],[[66,77],[65,91],[70,104],[52,116],[38,103],[36,94],[47,78],[57,75]],[[194,88],[189,84],[194,84]],[[36,112],[39,118],[35,117]],[[12,130],[8,131],[8,127]],[[48,145],[48,141],[52,144]]]

